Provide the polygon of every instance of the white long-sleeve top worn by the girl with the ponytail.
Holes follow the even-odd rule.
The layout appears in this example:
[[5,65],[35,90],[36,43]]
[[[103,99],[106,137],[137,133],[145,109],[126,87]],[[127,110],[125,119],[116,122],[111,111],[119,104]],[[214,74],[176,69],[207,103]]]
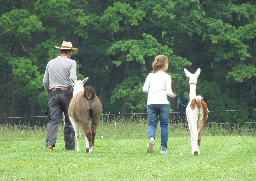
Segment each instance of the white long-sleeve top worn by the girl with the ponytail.
[[148,93],[147,105],[169,104],[167,95],[169,97],[173,96],[171,76],[163,71],[148,74],[143,92]]

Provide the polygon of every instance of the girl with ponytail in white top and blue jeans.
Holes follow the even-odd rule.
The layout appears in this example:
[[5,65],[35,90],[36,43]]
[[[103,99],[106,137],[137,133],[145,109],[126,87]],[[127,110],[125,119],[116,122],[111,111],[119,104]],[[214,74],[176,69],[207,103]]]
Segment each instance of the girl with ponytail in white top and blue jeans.
[[148,93],[148,153],[154,153],[155,135],[158,116],[161,126],[161,151],[167,153],[169,101],[167,95],[175,98],[172,92],[172,78],[166,74],[168,58],[164,55],[156,56],[152,63],[153,71],[148,74],[143,86],[143,92]]

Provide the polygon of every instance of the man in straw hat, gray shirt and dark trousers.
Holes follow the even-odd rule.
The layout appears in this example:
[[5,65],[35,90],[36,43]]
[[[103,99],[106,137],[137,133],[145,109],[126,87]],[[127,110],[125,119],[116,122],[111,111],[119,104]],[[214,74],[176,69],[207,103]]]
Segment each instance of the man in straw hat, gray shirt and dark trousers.
[[57,139],[58,125],[62,111],[65,115],[64,141],[67,150],[75,149],[75,132],[68,117],[68,105],[73,96],[72,84],[68,77],[77,80],[76,61],[70,59],[78,52],[71,42],[63,42],[61,47],[55,46],[60,53],[48,62],[44,74],[43,85],[49,94],[46,150],[52,151]]

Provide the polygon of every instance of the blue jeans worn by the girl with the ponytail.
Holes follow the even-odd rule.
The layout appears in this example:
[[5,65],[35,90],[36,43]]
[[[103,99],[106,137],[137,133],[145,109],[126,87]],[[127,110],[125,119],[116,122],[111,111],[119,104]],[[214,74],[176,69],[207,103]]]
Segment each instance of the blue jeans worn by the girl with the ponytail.
[[155,139],[158,116],[161,126],[161,146],[166,148],[168,143],[169,104],[148,105],[148,139]]

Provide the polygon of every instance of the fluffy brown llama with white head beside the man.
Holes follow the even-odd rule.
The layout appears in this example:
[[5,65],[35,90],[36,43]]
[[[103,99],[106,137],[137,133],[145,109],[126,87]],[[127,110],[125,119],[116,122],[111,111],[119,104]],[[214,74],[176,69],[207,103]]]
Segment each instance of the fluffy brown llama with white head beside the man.
[[[74,84],[74,92],[69,103],[68,116],[76,133],[76,151],[80,152],[80,128],[82,127],[85,133],[86,152],[92,153],[96,130],[102,114],[102,104],[92,86],[83,87],[88,77],[83,81],[74,81],[71,77],[69,79]],[[92,122],[89,121],[90,118]]]

